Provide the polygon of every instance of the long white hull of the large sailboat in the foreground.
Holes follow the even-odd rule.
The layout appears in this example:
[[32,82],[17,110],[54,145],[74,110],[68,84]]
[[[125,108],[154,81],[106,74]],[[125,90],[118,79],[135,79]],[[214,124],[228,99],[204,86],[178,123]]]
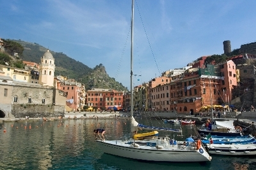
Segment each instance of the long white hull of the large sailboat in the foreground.
[[97,141],[104,153],[119,157],[147,160],[156,162],[208,162],[211,157],[204,150],[195,150],[195,147],[179,148],[178,145],[168,146],[141,146],[127,144],[124,141]]

